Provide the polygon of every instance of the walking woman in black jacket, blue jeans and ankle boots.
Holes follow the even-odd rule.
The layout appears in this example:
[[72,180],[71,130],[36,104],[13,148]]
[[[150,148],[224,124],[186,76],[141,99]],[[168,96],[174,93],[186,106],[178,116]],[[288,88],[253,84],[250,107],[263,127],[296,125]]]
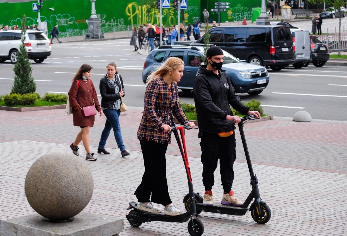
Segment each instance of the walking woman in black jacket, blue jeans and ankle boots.
[[101,133],[98,153],[110,154],[110,152],[105,150],[105,145],[110,131],[113,129],[120,154],[122,157],[126,157],[130,153],[127,152],[124,146],[119,124],[121,97],[124,97],[123,79],[118,74],[115,62],[110,62],[106,69],[107,74],[100,80],[101,110],[106,116],[106,122]]

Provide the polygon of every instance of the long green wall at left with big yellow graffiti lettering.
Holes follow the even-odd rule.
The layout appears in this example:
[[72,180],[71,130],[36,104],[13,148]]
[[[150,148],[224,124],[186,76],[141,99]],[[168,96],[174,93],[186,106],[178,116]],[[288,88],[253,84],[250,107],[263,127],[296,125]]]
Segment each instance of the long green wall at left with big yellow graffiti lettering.
[[[35,2],[37,1],[0,3],[2,10],[0,26],[21,25],[24,14],[27,17],[27,25],[37,24],[37,12],[32,11],[32,4]],[[172,2],[173,0],[171,0],[171,6]],[[91,16],[91,5],[90,0],[44,0],[41,9],[41,21],[47,21],[48,30],[56,24],[58,24],[60,32],[86,29],[87,20]],[[147,9],[146,6],[141,5],[140,0],[96,0],[95,8],[96,15],[101,19],[101,27],[159,24],[159,10],[156,8]],[[177,24],[177,11],[172,7],[163,8],[162,13],[165,27]],[[188,7],[184,11],[185,21],[192,23],[200,20],[200,14],[200,0],[188,0]]]

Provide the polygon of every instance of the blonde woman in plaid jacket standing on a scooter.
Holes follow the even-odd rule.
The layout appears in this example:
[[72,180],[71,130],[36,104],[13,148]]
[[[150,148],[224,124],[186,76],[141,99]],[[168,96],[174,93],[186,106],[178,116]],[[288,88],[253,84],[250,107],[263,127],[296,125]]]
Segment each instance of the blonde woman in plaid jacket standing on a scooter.
[[178,100],[177,82],[181,80],[183,70],[184,62],[170,57],[148,76],[144,112],[137,130],[145,165],[142,182],[134,193],[139,209],[161,212],[159,207],[153,206],[154,202],[165,206],[164,214],[170,216],[182,214],[172,204],[166,179],[165,154],[171,142],[171,126],[175,125],[176,118],[180,124],[194,127],[194,122],[187,120]]

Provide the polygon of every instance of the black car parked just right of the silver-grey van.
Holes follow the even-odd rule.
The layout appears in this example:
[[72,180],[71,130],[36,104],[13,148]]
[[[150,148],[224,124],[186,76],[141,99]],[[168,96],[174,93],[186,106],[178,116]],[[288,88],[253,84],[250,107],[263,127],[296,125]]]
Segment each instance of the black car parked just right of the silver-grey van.
[[[312,53],[312,64],[315,67],[322,67],[325,65],[330,58],[330,54],[328,52],[328,47],[324,43],[322,43],[318,37],[310,36],[311,39],[311,53]],[[310,63],[305,63],[304,66],[307,66]]]

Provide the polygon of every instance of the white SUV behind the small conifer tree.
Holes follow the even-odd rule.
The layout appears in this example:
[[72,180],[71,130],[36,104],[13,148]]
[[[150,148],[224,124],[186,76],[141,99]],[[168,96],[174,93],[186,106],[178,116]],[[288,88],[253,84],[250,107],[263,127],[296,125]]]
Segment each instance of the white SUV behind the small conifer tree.
[[[0,31],[0,62],[10,60],[16,63],[20,44],[22,44],[21,30]],[[43,62],[51,55],[51,43],[42,31],[28,29],[24,44],[29,59],[33,59],[36,63]]]

